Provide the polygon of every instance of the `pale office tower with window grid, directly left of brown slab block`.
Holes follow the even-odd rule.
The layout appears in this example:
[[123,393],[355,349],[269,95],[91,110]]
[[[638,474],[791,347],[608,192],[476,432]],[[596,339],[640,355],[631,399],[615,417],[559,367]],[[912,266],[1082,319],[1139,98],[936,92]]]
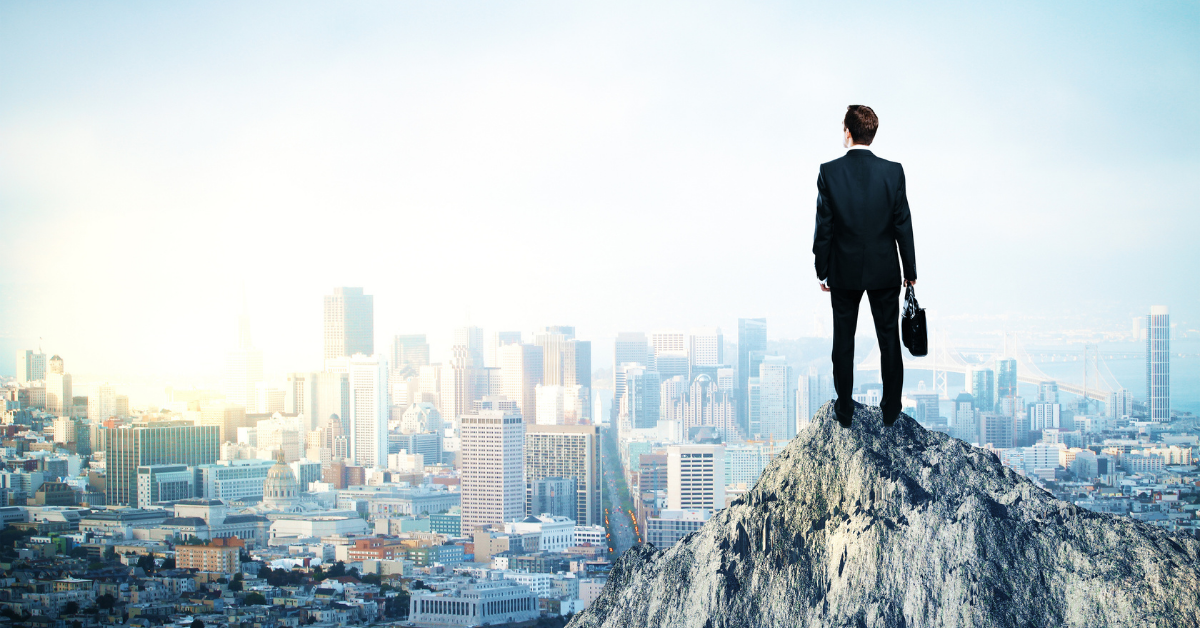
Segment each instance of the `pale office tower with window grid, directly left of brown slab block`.
[[521,415],[482,411],[461,420],[462,532],[524,518],[526,425]]

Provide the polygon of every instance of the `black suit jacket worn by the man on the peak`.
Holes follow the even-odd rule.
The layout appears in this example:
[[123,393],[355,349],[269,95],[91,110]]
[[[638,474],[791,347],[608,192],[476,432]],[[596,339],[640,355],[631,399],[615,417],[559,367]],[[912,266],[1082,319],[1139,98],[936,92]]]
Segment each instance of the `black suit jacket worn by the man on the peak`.
[[904,168],[865,149],[822,163],[812,255],[830,288],[899,287],[901,262],[904,279],[917,281]]

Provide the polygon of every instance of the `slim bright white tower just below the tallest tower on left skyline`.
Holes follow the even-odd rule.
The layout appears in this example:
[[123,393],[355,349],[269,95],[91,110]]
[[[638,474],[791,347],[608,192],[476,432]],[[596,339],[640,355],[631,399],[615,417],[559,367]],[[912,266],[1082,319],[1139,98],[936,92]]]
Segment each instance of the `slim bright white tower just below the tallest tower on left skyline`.
[[349,363],[350,420],[343,421],[349,459],[371,468],[388,466],[388,360],[383,355],[354,355]]

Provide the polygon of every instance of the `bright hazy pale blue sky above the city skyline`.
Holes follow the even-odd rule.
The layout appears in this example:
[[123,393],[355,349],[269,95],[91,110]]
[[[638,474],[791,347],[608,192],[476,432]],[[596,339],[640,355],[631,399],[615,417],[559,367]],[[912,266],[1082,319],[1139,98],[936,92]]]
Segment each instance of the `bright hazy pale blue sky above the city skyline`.
[[0,373],[216,377],[242,285],[269,372],[338,285],[379,348],[810,335],[850,103],[952,333],[1200,328],[1200,5],[960,5],[0,4]]

